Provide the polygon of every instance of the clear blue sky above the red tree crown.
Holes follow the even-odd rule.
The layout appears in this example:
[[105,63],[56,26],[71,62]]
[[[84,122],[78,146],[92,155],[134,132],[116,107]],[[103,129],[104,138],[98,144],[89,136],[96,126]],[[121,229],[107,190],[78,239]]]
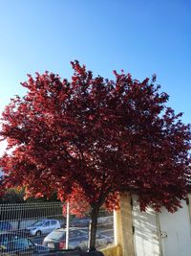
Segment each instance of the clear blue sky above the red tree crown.
[[0,0],[0,111],[24,93],[27,73],[70,79],[78,59],[106,78],[156,73],[191,123],[190,12],[190,0]]

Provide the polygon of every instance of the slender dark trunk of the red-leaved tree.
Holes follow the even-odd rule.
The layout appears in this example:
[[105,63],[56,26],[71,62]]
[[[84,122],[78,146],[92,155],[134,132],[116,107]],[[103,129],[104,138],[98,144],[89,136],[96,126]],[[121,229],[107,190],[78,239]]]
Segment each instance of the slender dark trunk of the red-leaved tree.
[[89,251],[96,250],[96,224],[97,224],[98,211],[99,211],[99,206],[92,207],[91,221],[90,221],[90,228],[89,228],[89,243],[88,243]]

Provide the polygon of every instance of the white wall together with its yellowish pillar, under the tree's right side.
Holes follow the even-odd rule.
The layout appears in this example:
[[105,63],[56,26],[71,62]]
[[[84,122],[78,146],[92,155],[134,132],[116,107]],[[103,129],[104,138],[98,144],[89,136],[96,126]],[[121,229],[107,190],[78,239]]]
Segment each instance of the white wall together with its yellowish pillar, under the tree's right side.
[[182,201],[182,208],[171,214],[165,208],[160,213],[152,208],[140,212],[136,197],[133,205],[130,196],[121,197],[120,211],[115,214],[117,245],[104,250],[104,255],[190,256],[191,195],[188,198],[189,204]]

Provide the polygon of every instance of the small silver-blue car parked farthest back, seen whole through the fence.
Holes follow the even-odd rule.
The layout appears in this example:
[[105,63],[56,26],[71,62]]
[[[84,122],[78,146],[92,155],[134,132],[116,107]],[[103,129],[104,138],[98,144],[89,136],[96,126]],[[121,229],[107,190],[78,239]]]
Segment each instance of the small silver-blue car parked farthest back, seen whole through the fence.
[[32,225],[27,226],[25,229],[29,235],[41,236],[47,235],[53,231],[53,229],[60,228],[60,222],[57,220],[40,220],[35,221]]

